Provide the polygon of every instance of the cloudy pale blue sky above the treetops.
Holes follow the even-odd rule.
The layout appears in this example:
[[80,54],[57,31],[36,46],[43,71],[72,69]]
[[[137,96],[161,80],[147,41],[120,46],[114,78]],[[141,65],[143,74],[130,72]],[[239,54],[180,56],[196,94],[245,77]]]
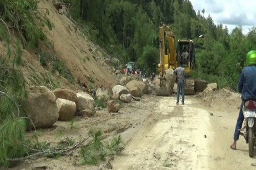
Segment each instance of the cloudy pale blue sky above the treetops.
[[243,27],[247,34],[256,26],[256,0],[190,0],[194,10],[205,10],[204,16],[211,15],[215,24],[227,25],[229,32],[236,26]]

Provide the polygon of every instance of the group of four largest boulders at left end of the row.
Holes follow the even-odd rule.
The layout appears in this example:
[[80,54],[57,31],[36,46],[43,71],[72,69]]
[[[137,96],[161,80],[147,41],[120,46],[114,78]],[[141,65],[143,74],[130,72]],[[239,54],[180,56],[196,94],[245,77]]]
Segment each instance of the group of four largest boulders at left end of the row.
[[[74,92],[68,88],[49,90],[47,87],[28,89],[25,107],[30,118],[30,128],[49,128],[57,121],[68,121],[75,115],[94,116],[95,101],[85,92]],[[34,126],[34,127],[33,127]]]

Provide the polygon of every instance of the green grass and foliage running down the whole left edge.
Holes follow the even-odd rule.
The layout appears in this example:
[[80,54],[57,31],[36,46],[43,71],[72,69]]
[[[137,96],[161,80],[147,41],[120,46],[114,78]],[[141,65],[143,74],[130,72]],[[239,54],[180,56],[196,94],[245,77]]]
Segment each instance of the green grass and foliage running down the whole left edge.
[[0,40],[7,47],[6,54],[0,56],[0,166],[4,167],[12,158],[32,152],[25,146],[30,145],[25,139],[29,120],[21,115],[25,115],[27,91],[19,67],[23,65],[23,47],[37,48],[39,41],[45,39],[42,27],[47,24],[51,28],[51,23],[38,15],[37,3],[0,0]]

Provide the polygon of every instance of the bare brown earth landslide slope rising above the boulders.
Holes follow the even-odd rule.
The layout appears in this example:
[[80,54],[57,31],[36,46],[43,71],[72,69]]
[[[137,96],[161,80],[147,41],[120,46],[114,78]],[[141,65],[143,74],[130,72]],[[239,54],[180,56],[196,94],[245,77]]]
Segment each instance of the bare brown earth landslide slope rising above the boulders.
[[[47,17],[53,27],[46,26],[43,31],[47,40],[40,42],[38,49],[23,47],[23,65],[20,66],[29,85],[45,85],[46,82],[58,81],[61,86],[78,87],[77,83],[94,86],[110,87],[116,83],[116,71],[109,63],[104,62],[111,58],[103,49],[92,43],[84,35],[76,23],[65,14],[59,14],[52,0],[40,0],[38,11],[42,17]],[[15,39],[15,30],[10,27]],[[7,45],[0,41],[0,56],[6,54]],[[15,45],[13,45],[15,48]],[[46,56],[46,65],[40,64],[42,54]],[[63,61],[73,77],[73,85],[65,78],[53,71],[53,63]],[[51,78],[49,78],[51,77]]]

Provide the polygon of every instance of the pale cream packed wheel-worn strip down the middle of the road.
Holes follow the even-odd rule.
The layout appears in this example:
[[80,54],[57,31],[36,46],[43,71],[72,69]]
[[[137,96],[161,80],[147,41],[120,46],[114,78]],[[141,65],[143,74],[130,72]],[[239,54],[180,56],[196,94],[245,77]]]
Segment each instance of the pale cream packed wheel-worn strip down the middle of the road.
[[208,113],[190,107],[193,103],[189,100],[185,106],[174,104],[175,98],[160,100],[155,115],[132,138],[124,154],[114,160],[114,169],[208,167],[208,141],[204,138],[210,126]]

